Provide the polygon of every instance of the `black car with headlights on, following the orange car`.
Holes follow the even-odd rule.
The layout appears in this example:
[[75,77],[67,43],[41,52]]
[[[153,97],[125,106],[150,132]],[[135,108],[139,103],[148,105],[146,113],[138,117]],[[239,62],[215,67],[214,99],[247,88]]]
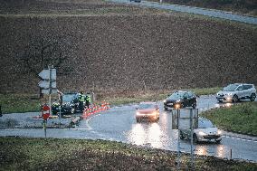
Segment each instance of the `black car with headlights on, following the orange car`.
[[191,91],[176,90],[166,100],[164,100],[164,109],[181,109],[186,107],[196,108],[196,96]]

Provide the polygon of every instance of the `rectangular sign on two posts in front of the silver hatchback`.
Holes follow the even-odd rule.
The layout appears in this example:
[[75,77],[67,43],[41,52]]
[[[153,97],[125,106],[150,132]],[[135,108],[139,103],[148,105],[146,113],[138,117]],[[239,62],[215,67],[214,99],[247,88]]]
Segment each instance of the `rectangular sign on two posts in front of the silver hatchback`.
[[194,166],[193,133],[198,128],[198,109],[173,109],[172,128],[178,129],[177,133],[177,169],[180,164],[180,130],[191,130],[191,166]]

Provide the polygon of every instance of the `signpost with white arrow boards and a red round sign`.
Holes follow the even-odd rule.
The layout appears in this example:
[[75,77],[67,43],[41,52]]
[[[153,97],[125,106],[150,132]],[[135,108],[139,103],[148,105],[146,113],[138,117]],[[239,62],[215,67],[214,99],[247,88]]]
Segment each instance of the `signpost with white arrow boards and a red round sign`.
[[42,118],[43,118],[43,129],[44,129],[44,136],[46,138],[46,122],[47,119],[52,114],[52,102],[51,102],[51,94],[57,93],[56,89],[56,69],[53,69],[52,66],[48,66],[48,70],[41,71],[38,76],[42,79],[38,83],[38,86],[42,88],[41,93],[48,94],[49,102],[48,106],[44,105],[42,109]]

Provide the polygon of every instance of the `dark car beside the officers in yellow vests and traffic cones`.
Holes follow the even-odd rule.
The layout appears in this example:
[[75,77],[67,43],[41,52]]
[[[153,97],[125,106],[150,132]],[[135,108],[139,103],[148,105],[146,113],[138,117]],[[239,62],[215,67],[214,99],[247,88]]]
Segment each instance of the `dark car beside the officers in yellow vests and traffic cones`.
[[[79,110],[79,94],[78,93],[64,93],[62,95],[61,114],[73,114]],[[60,112],[60,101],[52,103],[52,114]]]

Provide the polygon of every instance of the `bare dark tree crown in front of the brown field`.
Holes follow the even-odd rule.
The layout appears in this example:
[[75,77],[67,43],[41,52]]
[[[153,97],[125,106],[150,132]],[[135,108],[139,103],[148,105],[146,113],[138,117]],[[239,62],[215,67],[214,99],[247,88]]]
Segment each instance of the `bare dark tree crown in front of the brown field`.
[[[18,61],[23,65],[23,71],[32,73],[37,77],[38,73],[53,65],[58,70],[58,74],[67,74],[66,68],[72,71],[72,65],[67,67],[70,62],[66,62],[71,55],[71,47],[63,40],[35,38],[18,55]],[[42,97],[43,94],[40,95]]]

